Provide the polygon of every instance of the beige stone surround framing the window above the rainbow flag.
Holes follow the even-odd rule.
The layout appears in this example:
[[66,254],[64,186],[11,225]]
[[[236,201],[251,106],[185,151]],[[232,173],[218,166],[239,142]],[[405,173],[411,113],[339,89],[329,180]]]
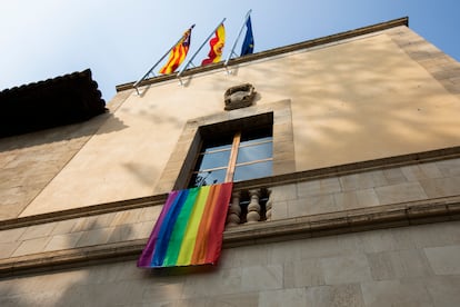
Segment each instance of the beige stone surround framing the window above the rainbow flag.
[[[254,123],[254,118],[258,121],[259,119],[266,120],[266,122],[269,118],[272,122],[272,176],[294,172],[292,111],[291,101],[287,99],[189,119],[184,122],[176,147],[153,187],[153,194],[187,188],[190,180],[190,169],[196,165],[203,133],[229,131],[234,120],[240,120],[241,125],[249,127]],[[210,129],[207,129],[212,127],[219,130],[209,131]]]

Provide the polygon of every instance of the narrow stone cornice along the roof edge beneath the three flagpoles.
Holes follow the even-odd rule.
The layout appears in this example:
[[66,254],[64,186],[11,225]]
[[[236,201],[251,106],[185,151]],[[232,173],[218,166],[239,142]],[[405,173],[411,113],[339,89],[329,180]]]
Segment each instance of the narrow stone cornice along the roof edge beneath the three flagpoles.
[[[260,60],[260,59],[264,59],[264,58],[269,58],[269,57],[274,57],[274,56],[278,56],[278,55],[283,55],[283,53],[288,53],[288,52],[292,52],[292,51],[297,51],[297,50],[308,49],[308,48],[312,48],[312,47],[317,47],[317,46],[321,46],[321,44],[327,44],[327,43],[331,43],[331,42],[336,42],[336,41],[341,41],[341,40],[346,40],[346,39],[350,39],[350,38],[356,38],[356,37],[359,37],[359,36],[364,36],[364,34],[369,34],[369,33],[372,33],[372,32],[383,31],[383,30],[391,29],[391,28],[394,28],[394,27],[400,27],[400,26],[408,27],[409,26],[409,18],[403,17],[403,18],[399,18],[399,19],[394,19],[394,20],[390,20],[390,21],[386,21],[386,22],[381,22],[381,23],[377,23],[377,24],[372,24],[372,26],[368,26],[368,27],[363,27],[363,28],[359,28],[359,29],[356,29],[356,30],[350,30],[350,31],[346,31],[346,32],[341,32],[341,33],[337,33],[337,34],[332,34],[332,36],[327,36],[327,37],[312,39],[312,40],[308,40],[308,41],[303,41],[303,42],[299,42],[299,43],[293,43],[293,44],[289,44],[289,46],[284,46],[284,47],[280,47],[280,48],[274,48],[274,49],[262,51],[262,52],[248,55],[248,56],[244,56],[244,57],[234,58],[234,59],[231,59],[229,61],[228,66],[231,67],[231,66],[234,66],[234,65],[240,65],[240,63],[250,62],[250,61],[254,61],[254,60]],[[186,70],[182,73],[182,77],[187,77],[187,76],[209,71],[209,70],[221,69],[221,68],[224,68],[223,62],[196,67],[196,68],[191,68],[191,69]],[[159,83],[159,82],[163,82],[163,81],[168,81],[168,80],[173,80],[176,78],[177,78],[177,73],[157,76],[157,77],[153,77],[153,78],[150,78],[150,79],[147,79],[147,80],[142,81],[139,86],[141,87],[141,86]],[[123,90],[132,90],[133,85],[134,85],[134,82],[128,82],[128,83],[124,83],[124,85],[117,86],[116,89],[117,89],[118,92],[123,91]]]

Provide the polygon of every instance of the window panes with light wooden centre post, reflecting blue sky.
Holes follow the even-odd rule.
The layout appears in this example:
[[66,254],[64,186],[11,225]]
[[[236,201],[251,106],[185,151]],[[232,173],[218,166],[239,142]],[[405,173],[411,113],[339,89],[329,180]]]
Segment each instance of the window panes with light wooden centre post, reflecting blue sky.
[[270,127],[203,137],[189,187],[241,181],[272,175]]

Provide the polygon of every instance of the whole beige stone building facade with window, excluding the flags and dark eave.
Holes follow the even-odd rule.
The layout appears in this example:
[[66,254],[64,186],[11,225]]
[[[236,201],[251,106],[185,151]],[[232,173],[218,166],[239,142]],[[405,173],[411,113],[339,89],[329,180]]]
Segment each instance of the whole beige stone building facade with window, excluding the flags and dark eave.
[[[132,86],[0,139],[2,306],[460,304],[460,63],[408,19]],[[137,268],[168,192],[221,180],[202,146],[253,131],[218,266]]]

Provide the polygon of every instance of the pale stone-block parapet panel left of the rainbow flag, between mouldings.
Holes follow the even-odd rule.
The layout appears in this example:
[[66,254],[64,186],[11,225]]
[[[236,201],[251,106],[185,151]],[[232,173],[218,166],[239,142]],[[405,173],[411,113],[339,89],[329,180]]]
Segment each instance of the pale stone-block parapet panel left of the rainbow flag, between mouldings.
[[[147,240],[160,211],[161,206],[153,206],[1,230],[0,263],[41,252],[79,252],[81,248]],[[52,255],[40,258],[46,257]]]

